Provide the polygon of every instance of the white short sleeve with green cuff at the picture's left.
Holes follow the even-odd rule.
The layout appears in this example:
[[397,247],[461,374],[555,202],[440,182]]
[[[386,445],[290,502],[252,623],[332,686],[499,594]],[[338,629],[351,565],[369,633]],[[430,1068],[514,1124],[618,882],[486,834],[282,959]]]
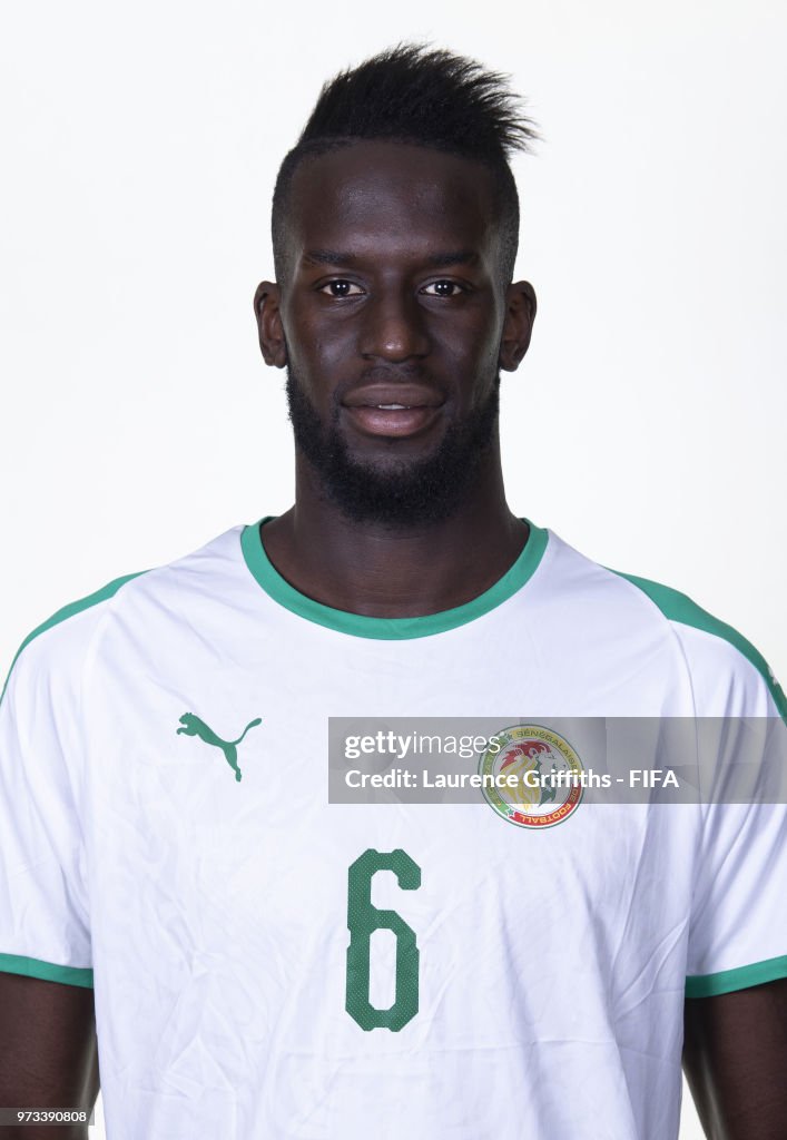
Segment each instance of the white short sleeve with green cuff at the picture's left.
[[0,969],[91,986],[72,657],[58,629],[25,644],[0,700]]

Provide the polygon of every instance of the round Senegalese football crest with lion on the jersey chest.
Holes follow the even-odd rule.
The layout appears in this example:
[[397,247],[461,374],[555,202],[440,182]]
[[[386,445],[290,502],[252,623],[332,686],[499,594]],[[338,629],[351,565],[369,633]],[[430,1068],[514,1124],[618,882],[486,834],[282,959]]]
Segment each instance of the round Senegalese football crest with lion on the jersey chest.
[[484,787],[487,801],[504,820],[537,830],[562,823],[576,811],[584,768],[565,736],[539,724],[517,724],[494,739],[500,747],[484,752],[478,771],[510,777]]

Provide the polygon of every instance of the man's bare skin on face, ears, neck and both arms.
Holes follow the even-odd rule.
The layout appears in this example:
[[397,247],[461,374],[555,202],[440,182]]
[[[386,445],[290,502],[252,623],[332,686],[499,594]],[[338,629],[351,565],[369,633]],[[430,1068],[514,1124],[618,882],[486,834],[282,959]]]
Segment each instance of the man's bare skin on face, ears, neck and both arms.
[[[396,383],[417,377],[441,400],[419,431],[370,433],[349,407],[341,427],[352,454],[372,463],[428,455],[452,417],[482,401],[497,367],[516,370],[530,340],[535,294],[527,282],[500,280],[489,176],[395,144],[362,144],[310,165],[294,185],[290,272],[254,298],[262,355],[279,368],[290,359],[321,415],[368,368]],[[326,262],[309,251],[342,256]],[[374,617],[470,601],[505,572],[526,537],[505,502],[496,438],[472,492],[439,526],[350,523],[297,454],[295,505],[265,528],[271,561],[298,589]],[[687,1001],[684,1068],[712,1140],[784,1140],[786,1057],[787,982]],[[0,1106],[90,1107],[97,1091],[92,992],[0,972]],[[17,1134],[87,1140],[88,1131],[2,1130],[9,1140]]]

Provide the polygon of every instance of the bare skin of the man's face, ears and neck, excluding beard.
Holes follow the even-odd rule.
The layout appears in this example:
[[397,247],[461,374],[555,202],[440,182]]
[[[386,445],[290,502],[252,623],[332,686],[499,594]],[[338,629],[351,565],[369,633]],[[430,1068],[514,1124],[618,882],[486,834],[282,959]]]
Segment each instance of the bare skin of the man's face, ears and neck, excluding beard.
[[[333,390],[357,386],[370,367],[392,383],[423,378],[445,397],[430,425],[395,440],[365,434],[343,409],[358,458],[384,465],[432,453],[451,418],[488,394],[497,368],[513,372],[527,351],[536,299],[527,282],[498,282],[490,177],[454,155],[386,142],[309,160],[295,173],[291,271],[254,298],[266,363],[290,363],[323,417]],[[310,256],[326,251],[336,256]],[[456,254],[465,260],[446,256]],[[332,296],[332,282],[350,283],[350,294]],[[372,617],[470,601],[527,537],[505,502],[496,437],[472,494],[439,526],[348,521],[300,453],[295,488],[295,505],[265,528],[271,561],[310,597]]]

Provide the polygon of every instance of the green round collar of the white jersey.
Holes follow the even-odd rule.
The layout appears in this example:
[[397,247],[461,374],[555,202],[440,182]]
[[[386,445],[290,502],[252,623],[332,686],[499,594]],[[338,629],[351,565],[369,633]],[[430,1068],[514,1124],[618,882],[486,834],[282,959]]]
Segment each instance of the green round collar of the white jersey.
[[455,629],[457,626],[466,625],[468,621],[474,621],[481,614],[494,610],[496,605],[521,589],[533,576],[546,549],[549,537],[546,530],[536,527],[529,519],[524,519],[522,521],[530,528],[530,534],[517,561],[494,586],[463,605],[417,618],[370,618],[363,613],[350,613],[348,610],[334,610],[331,605],[323,605],[322,602],[315,602],[291,586],[270,562],[262,545],[260,528],[270,521],[271,515],[266,515],[252,526],[244,527],[241,532],[241,548],[246,565],[266,594],[307,621],[315,621],[319,626],[354,637],[371,637],[379,641],[404,641],[441,634],[446,629]]

